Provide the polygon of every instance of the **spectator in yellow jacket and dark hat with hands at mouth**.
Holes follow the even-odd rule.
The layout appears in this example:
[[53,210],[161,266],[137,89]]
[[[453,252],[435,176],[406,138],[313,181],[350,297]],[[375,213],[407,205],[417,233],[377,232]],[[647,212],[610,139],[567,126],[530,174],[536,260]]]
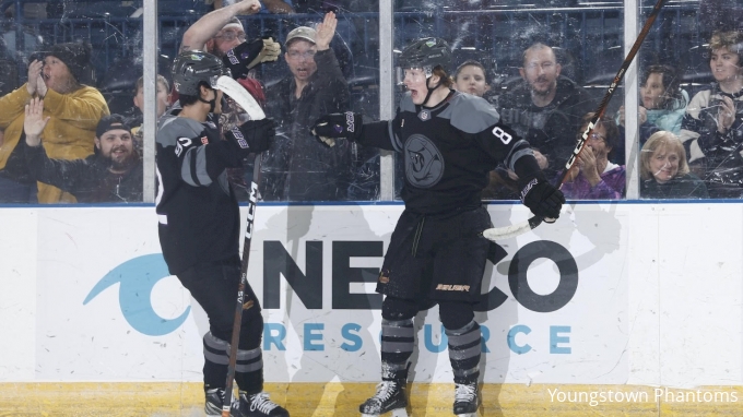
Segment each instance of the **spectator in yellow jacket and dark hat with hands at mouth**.
[[58,44],[45,52],[43,61],[28,65],[28,82],[0,98],[0,200],[40,203],[74,202],[60,189],[35,182],[28,177],[23,154],[14,152],[23,134],[24,106],[32,97],[44,98],[46,128],[44,148],[50,158],[78,159],[93,153],[98,120],[108,115],[108,105],[96,88],[80,83],[90,63],[91,49],[83,44]]

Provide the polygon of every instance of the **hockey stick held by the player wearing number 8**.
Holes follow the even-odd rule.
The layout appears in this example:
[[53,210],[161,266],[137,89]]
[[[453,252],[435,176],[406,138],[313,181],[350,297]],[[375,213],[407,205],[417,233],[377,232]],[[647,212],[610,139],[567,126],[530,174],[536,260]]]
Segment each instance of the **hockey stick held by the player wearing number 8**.
[[[648,15],[648,20],[645,22],[642,29],[637,36],[635,45],[633,45],[632,49],[629,49],[629,53],[627,53],[627,57],[624,59],[624,62],[622,62],[620,71],[616,73],[616,76],[614,76],[614,80],[612,81],[611,85],[609,85],[606,94],[604,94],[603,99],[599,104],[599,108],[594,111],[593,119],[591,119],[591,121],[586,127],[583,134],[578,139],[576,147],[573,150],[573,154],[567,159],[567,163],[565,163],[565,170],[563,170],[563,174],[559,176],[559,180],[557,181],[558,187],[562,187],[563,182],[565,182],[565,178],[567,178],[570,168],[573,168],[573,165],[575,165],[576,158],[578,157],[578,155],[580,155],[580,152],[583,150],[583,147],[586,147],[588,136],[591,134],[593,128],[595,128],[595,124],[599,122],[599,120],[601,120],[601,117],[604,115],[604,111],[606,111],[609,100],[614,95],[614,92],[622,82],[622,79],[624,79],[624,73],[627,71],[629,64],[632,64],[632,61],[635,59],[637,51],[640,49],[640,46],[642,45],[642,40],[645,40],[645,37],[648,35],[648,32],[650,32],[650,27],[656,22],[656,17],[658,17],[658,14],[660,13],[663,3],[665,3],[665,0],[658,0],[656,5],[652,8],[652,11],[650,12],[650,15]],[[541,225],[543,221],[544,217],[533,216],[523,223],[485,229],[483,230],[482,235],[485,238],[493,241],[508,239],[535,228],[536,226]]]

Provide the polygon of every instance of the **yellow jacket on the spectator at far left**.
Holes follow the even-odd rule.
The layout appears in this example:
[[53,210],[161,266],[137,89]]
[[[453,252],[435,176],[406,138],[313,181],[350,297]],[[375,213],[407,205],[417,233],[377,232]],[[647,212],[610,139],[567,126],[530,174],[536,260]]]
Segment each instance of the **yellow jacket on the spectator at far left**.
[[[0,130],[4,140],[0,145],[0,169],[5,167],[8,157],[23,133],[25,105],[32,96],[23,84],[16,91],[0,97]],[[109,114],[106,99],[96,88],[82,88],[59,94],[49,88],[44,97],[44,117],[51,117],[44,129],[44,148],[50,158],[78,159],[93,153],[95,128],[98,120]],[[72,194],[49,184],[38,183],[39,203],[75,202]]]

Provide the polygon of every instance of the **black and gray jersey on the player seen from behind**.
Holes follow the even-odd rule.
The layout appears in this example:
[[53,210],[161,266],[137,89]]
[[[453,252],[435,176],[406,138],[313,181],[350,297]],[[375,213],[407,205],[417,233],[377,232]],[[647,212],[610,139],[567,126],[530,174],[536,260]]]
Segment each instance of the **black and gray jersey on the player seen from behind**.
[[211,121],[163,116],[156,138],[160,243],[170,274],[239,257],[239,206],[226,168],[246,150]]

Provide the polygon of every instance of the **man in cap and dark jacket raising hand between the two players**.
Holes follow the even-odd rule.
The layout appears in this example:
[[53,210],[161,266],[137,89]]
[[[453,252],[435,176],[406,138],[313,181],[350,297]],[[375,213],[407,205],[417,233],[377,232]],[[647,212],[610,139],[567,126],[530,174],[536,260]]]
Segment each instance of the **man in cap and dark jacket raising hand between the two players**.
[[317,27],[299,26],[286,36],[284,59],[291,74],[267,88],[268,114],[285,133],[263,154],[263,198],[282,201],[338,201],[347,198],[352,146],[328,151],[309,133],[328,112],[349,107],[350,94],[330,40],[335,14]]

